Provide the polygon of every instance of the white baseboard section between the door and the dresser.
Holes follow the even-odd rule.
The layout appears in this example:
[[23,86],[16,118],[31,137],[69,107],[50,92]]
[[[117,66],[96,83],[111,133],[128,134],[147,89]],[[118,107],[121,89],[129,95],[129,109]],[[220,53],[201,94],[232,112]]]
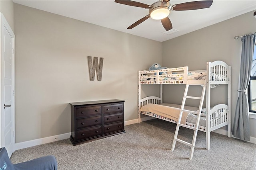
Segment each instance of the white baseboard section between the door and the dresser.
[[40,138],[40,139],[34,139],[31,141],[15,143],[15,150],[24,149],[24,148],[28,148],[28,147],[34,147],[36,145],[42,145],[45,143],[60,141],[63,139],[68,139],[70,137],[70,135],[71,135],[71,133],[64,133],[61,135],[54,135],[51,137],[44,137],[44,138]]

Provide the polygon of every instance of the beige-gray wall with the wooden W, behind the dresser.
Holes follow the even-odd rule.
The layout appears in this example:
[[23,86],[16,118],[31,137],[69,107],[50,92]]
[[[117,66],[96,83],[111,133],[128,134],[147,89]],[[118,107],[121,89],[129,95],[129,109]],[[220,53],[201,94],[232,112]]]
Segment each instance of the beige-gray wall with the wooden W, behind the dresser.
[[[125,100],[137,119],[138,70],[161,63],[161,43],[14,4],[16,143],[70,132],[69,102]],[[87,56],[104,58],[102,81]]]

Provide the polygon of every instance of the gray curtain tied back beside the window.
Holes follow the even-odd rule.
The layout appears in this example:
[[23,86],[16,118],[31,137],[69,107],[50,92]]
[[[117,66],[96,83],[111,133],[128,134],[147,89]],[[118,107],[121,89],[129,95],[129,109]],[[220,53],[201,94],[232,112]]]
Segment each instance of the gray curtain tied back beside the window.
[[252,57],[255,46],[256,35],[246,35],[242,37],[242,55],[240,67],[240,89],[238,90],[238,100],[233,124],[234,137],[244,141],[250,141],[249,106],[246,89],[248,87],[252,69]]

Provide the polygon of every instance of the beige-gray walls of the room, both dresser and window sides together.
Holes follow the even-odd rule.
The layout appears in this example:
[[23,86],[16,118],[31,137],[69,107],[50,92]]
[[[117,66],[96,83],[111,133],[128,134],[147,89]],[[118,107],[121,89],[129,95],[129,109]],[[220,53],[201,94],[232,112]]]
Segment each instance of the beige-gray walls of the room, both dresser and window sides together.
[[[69,102],[126,100],[125,121],[136,119],[138,70],[152,63],[190,70],[205,69],[207,61],[230,64],[234,114],[242,44],[234,36],[256,31],[252,14],[160,43],[14,4],[16,143],[70,132]],[[87,56],[104,58],[102,81],[90,81]],[[164,86],[164,102],[181,103],[183,92],[184,86]],[[226,102],[222,93],[225,87],[212,98]],[[256,137],[256,119],[250,125]]]

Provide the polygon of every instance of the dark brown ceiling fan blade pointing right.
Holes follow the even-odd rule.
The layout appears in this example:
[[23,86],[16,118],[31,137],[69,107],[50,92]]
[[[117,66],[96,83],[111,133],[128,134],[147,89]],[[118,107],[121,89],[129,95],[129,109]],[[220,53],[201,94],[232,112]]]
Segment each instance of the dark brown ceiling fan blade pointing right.
[[182,4],[176,4],[172,6],[174,11],[186,11],[186,10],[199,10],[203,8],[209,8],[212,5],[212,0],[185,2]]

